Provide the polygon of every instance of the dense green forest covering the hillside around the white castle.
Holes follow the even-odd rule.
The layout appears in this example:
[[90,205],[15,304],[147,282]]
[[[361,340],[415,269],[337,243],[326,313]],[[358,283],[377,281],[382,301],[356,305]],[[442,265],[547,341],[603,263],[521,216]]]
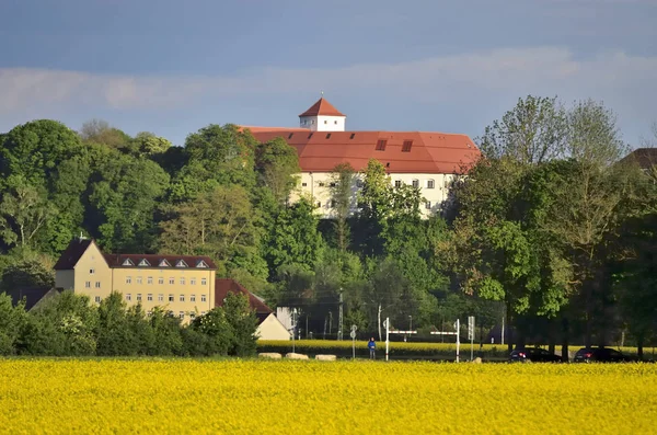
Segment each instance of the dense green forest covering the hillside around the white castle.
[[370,161],[356,198],[355,170],[335,168],[320,220],[311,198],[288,202],[300,169],[281,138],[208,125],[177,147],[30,122],[0,135],[0,290],[54,285],[82,233],[106,252],[209,255],[218,276],[297,308],[302,336],[335,336],[342,305],[344,328],[370,333],[385,317],[427,330],[475,316],[486,331],[504,318],[516,343],[652,343],[657,172],[623,160],[613,113],[528,96],[475,141],[483,157],[441,214],[420,219],[422,192]]

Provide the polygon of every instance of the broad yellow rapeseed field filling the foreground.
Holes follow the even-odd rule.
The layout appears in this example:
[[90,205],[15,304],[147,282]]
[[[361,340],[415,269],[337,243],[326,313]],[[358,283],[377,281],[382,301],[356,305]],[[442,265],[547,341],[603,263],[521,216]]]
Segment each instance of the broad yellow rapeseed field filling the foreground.
[[657,365],[0,359],[0,432],[654,433]]

